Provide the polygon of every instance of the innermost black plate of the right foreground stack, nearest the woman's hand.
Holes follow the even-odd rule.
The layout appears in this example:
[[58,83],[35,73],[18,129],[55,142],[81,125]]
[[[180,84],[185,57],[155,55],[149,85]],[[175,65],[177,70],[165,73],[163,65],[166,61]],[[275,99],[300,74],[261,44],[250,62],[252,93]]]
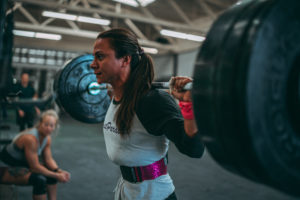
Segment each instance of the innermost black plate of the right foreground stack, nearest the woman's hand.
[[214,22],[199,51],[194,68],[192,93],[197,125],[209,152],[220,164],[223,164],[223,167],[227,168],[230,166],[224,166],[224,163],[228,162],[228,155],[224,152],[221,139],[218,138],[217,124],[215,122],[214,74],[218,56],[223,49],[224,41],[230,34],[232,26],[237,18],[252,4],[251,2],[235,6],[224,12]]

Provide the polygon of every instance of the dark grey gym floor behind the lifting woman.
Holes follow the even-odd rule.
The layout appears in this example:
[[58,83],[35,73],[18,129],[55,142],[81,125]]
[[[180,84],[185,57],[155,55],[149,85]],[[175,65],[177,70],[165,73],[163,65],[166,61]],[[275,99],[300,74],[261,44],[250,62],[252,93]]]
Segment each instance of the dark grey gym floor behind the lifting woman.
[[[18,131],[14,112],[2,124],[0,138],[11,137]],[[85,124],[63,114],[59,133],[53,137],[53,157],[60,168],[71,173],[71,181],[58,184],[59,200],[111,200],[120,176],[119,168],[107,157],[102,124]],[[297,198],[254,183],[224,170],[205,152],[201,159],[180,154],[171,144],[169,173],[180,200],[296,200]],[[31,187],[14,186],[18,200],[31,199]]]

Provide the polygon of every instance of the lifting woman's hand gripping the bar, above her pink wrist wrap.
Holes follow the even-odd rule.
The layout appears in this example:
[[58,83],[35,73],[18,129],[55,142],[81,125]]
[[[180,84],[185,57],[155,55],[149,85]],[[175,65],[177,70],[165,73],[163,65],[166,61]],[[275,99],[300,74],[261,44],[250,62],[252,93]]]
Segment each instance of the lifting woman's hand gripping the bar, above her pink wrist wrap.
[[190,90],[184,90],[183,87],[192,82],[190,77],[186,76],[176,76],[172,77],[170,80],[170,90],[171,94],[179,101],[192,101],[192,93]]

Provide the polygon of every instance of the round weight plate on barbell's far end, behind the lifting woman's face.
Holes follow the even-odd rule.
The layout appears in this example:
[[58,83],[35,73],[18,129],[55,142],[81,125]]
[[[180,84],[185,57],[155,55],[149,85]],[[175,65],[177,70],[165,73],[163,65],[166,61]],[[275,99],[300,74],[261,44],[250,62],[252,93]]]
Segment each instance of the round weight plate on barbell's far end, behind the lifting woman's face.
[[56,75],[54,90],[56,101],[73,118],[85,123],[104,121],[110,98],[107,90],[92,94],[88,91],[97,79],[90,68],[94,57],[91,54],[72,59]]

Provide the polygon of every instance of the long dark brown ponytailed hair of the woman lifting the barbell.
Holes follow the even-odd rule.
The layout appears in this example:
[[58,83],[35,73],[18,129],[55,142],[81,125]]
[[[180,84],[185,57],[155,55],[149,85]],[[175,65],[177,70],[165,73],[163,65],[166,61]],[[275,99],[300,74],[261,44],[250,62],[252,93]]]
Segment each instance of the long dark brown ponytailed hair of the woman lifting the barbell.
[[121,136],[128,135],[135,109],[140,98],[151,88],[154,78],[152,58],[144,53],[137,37],[127,29],[116,28],[100,33],[97,37],[108,38],[110,47],[115,51],[116,58],[131,56],[130,75],[124,86],[115,119]]

